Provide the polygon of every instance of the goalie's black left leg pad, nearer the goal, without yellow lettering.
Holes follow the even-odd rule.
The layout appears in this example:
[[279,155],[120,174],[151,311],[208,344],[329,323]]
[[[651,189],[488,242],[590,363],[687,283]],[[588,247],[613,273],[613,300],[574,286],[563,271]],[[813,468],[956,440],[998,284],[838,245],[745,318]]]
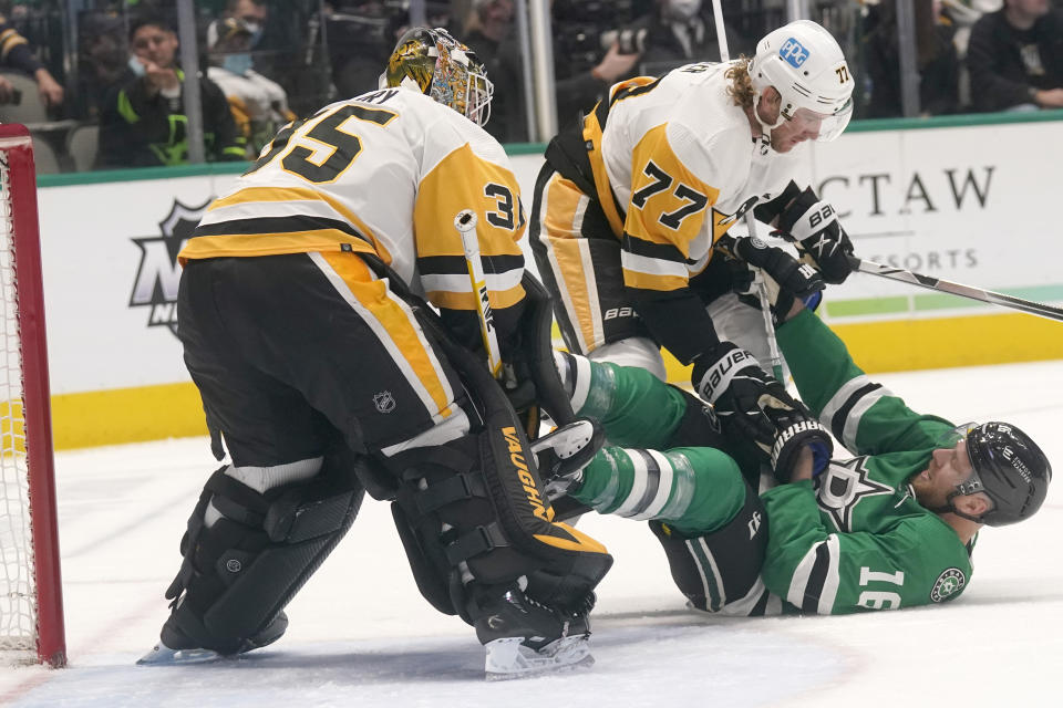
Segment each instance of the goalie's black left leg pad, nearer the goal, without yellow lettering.
[[[279,638],[285,605],[358,514],[364,490],[350,461],[343,452],[323,466],[316,458],[217,470],[182,539],[185,560],[166,591],[174,610],[163,644],[226,655]],[[299,471],[287,473],[292,468]],[[286,480],[268,487],[270,477]]]

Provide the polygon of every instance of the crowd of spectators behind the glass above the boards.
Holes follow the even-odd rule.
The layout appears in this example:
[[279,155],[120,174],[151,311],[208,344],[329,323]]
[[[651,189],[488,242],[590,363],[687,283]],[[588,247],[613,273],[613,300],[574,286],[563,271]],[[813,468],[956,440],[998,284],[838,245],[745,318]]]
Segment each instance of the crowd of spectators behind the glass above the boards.
[[[921,115],[1063,108],[1063,10],[1053,0],[910,2]],[[832,30],[858,58],[857,117],[902,115],[897,4],[809,3],[827,25],[850,18]],[[70,22],[70,6],[0,0],[0,121],[11,106],[33,102],[51,122],[50,142],[58,142],[56,125],[99,127],[95,167],[187,162],[176,3],[84,0],[74,48],[55,42],[71,35],[54,27]],[[487,65],[496,91],[488,132],[503,143],[533,139],[517,2],[426,0],[424,7],[430,24],[450,29]],[[374,88],[409,24],[410,2],[204,0],[195,8],[207,158],[246,160],[285,123]],[[757,38],[785,22],[785,11],[784,0],[727,3],[730,56],[752,55]],[[553,0],[551,14],[563,126],[617,81],[721,56],[710,0]]]

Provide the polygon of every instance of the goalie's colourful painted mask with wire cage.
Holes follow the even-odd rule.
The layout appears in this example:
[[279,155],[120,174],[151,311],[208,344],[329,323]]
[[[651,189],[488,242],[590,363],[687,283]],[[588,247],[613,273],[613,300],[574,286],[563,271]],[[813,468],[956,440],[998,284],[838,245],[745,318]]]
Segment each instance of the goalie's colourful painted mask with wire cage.
[[407,86],[450,106],[476,125],[491,117],[494,85],[476,53],[442,28],[406,31],[380,75],[380,87]]

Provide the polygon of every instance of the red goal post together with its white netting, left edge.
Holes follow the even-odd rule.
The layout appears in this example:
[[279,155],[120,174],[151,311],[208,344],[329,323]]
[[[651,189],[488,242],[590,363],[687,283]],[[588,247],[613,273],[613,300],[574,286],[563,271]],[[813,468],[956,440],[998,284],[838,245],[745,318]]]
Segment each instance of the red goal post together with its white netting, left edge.
[[33,140],[0,125],[0,655],[66,663]]

